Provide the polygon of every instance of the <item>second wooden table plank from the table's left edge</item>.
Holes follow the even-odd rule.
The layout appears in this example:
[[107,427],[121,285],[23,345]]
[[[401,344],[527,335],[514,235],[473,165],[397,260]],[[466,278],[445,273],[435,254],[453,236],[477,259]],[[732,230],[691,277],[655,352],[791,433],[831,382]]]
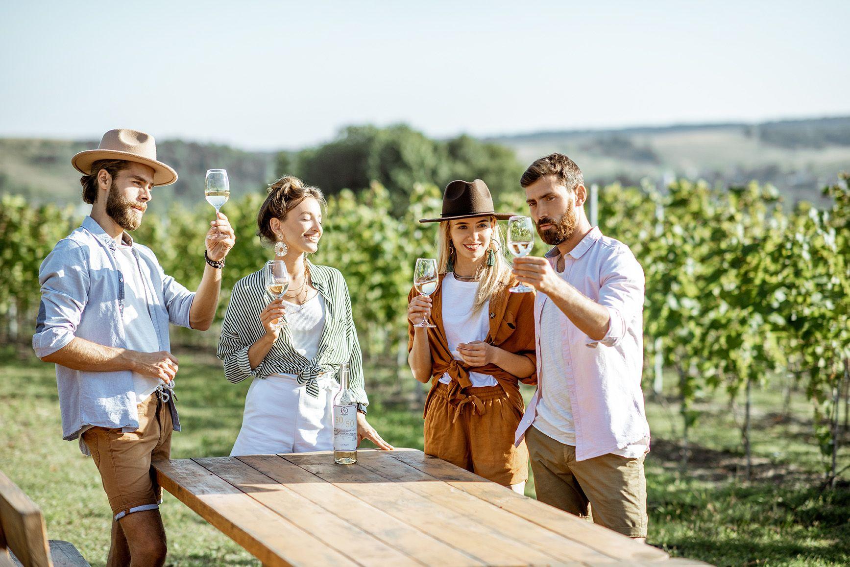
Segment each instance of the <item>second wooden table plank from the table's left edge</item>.
[[[281,485],[256,468],[252,468],[235,457],[213,457],[192,459],[211,473],[251,496],[257,502],[288,519],[292,524],[317,536],[326,545],[340,553],[352,553],[354,561],[362,565],[422,565],[413,558],[400,553],[384,541],[349,524],[350,511],[337,506],[334,515],[310,502],[307,498]],[[281,461],[283,459],[280,459]],[[316,484],[326,484],[314,479]]]

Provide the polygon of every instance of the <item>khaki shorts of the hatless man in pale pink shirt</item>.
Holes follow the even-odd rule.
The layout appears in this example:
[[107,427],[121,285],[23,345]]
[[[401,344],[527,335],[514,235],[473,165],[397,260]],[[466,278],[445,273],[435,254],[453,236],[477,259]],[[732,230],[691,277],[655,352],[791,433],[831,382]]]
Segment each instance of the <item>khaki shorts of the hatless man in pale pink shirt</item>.
[[537,500],[590,518],[629,537],[646,537],[646,477],[643,456],[575,460],[575,447],[530,427],[525,432]]

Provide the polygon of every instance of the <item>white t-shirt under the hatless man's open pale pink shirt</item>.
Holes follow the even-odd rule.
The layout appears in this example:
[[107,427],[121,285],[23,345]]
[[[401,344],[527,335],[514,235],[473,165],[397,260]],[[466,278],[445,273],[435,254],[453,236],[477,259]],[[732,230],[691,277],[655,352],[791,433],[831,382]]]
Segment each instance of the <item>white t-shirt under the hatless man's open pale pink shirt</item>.
[[[565,272],[557,272],[564,280]],[[575,423],[573,422],[573,406],[567,381],[564,377],[570,371],[570,358],[561,334],[563,319],[567,315],[558,309],[553,301],[543,305],[540,315],[540,354],[541,354],[541,388],[540,401],[537,402],[537,417],[534,427],[541,433],[563,443],[575,446]],[[646,453],[649,439],[629,445],[624,449],[611,451],[615,455],[638,458]]]

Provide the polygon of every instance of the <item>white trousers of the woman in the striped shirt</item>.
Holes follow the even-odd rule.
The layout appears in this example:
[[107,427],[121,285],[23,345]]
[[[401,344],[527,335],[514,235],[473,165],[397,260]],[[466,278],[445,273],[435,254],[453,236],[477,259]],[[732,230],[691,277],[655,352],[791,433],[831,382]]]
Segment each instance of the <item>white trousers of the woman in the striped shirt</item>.
[[242,428],[230,456],[303,453],[333,449],[333,396],[339,385],[319,377],[314,398],[295,377],[254,378],[245,399]]

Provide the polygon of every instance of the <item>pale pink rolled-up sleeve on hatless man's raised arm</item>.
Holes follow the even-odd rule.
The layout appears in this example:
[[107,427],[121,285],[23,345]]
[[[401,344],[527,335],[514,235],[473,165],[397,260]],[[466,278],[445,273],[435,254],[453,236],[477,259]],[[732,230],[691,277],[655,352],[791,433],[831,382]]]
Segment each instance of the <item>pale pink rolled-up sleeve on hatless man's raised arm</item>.
[[615,347],[626,337],[629,326],[642,320],[643,313],[643,268],[630,250],[622,248],[611,255],[599,283],[598,303],[608,310],[609,324],[601,340],[587,337],[585,344],[592,349],[600,343]]

